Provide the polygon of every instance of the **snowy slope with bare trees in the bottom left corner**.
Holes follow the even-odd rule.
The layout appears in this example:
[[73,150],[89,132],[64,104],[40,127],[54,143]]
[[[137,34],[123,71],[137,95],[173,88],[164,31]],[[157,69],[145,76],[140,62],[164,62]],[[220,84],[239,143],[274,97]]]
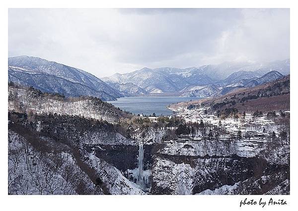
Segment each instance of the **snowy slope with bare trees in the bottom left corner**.
[[41,153],[24,137],[8,130],[8,194],[102,192],[94,189],[93,182],[77,166],[71,154]]

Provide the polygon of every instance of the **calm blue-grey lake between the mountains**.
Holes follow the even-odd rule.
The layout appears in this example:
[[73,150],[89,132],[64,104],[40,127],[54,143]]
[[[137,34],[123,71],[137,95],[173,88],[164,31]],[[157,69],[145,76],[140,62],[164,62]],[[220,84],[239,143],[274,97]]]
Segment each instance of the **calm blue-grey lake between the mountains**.
[[186,102],[190,100],[199,100],[200,98],[186,98],[186,97],[125,97],[118,98],[117,101],[108,101],[122,110],[130,111],[134,114],[150,115],[153,112],[156,115],[171,115],[173,112],[166,108],[166,106],[179,102]]

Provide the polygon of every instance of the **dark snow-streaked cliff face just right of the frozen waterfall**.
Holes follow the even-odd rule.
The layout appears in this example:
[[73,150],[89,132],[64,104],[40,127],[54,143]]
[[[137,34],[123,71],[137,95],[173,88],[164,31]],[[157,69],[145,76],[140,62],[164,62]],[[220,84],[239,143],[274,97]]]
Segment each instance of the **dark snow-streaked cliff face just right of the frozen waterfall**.
[[154,163],[152,192],[196,194],[206,189],[214,190],[224,184],[233,185],[254,175],[254,162],[256,160],[237,157],[158,157]]

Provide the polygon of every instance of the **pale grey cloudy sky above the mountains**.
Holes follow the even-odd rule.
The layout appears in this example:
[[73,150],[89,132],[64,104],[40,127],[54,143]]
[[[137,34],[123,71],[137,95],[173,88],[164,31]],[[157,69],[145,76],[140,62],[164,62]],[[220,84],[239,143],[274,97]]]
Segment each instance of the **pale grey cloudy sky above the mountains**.
[[289,9],[9,9],[8,56],[98,77],[290,57]]

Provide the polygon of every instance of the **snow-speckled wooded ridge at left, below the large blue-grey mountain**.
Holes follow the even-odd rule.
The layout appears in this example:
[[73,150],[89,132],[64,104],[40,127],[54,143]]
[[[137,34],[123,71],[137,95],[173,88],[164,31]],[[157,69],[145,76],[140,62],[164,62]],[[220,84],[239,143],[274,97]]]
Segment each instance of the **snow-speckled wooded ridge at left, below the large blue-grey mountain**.
[[33,87],[8,86],[8,110],[26,113],[57,113],[115,122],[131,114],[95,97],[66,98],[61,94],[43,93]]

